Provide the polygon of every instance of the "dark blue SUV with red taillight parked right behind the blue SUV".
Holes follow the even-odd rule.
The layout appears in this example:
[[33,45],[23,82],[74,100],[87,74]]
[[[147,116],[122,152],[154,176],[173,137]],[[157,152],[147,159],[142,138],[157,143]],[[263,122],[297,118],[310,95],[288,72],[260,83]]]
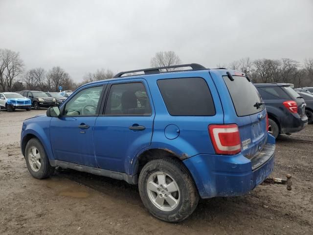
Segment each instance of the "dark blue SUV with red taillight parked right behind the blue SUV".
[[256,83],[268,112],[269,132],[279,134],[298,132],[308,124],[306,103],[289,83]]

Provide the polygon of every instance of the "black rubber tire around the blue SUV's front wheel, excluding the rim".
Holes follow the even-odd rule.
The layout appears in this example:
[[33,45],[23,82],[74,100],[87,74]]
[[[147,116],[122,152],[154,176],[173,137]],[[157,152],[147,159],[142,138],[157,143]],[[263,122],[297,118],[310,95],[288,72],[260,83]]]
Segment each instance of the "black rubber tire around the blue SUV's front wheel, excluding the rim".
[[[38,153],[40,154],[40,167],[38,171],[34,171],[32,167],[30,166],[30,152],[32,151],[32,148],[35,147],[38,150]],[[49,163],[49,160],[47,158],[47,155],[45,154],[44,146],[41,144],[41,142],[33,138],[29,140],[26,144],[25,148],[25,161],[28,168],[29,173],[36,179],[45,179],[49,177],[54,172],[55,167],[52,167]]]

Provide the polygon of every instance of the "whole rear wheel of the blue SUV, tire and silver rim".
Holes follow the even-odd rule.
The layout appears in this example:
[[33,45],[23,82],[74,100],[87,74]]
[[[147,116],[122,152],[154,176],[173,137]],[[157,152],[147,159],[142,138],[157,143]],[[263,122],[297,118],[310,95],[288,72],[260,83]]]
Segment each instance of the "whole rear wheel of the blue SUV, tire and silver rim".
[[184,220],[199,202],[198,190],[188,170],[174,159],[156,159],[145,164],[138,187],[148,211],[167,222]]

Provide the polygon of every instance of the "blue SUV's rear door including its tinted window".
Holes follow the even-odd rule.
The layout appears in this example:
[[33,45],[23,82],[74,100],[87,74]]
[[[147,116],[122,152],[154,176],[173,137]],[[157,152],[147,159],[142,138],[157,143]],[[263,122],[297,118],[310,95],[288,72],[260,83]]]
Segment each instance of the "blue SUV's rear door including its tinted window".
[[155,111],[146,81],[111,82],[103,110],[94,126],[97,164],[129,174],[134,155],[152,138]]

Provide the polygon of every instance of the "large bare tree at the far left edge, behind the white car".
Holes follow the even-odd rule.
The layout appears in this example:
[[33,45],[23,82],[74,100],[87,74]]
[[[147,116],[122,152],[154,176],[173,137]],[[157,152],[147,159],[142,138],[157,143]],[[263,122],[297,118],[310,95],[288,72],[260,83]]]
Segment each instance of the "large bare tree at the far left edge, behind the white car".
[[0,87],[3,91],[12,91],[15,79],[23,73],[23,66],[19,52],[0,49]]

